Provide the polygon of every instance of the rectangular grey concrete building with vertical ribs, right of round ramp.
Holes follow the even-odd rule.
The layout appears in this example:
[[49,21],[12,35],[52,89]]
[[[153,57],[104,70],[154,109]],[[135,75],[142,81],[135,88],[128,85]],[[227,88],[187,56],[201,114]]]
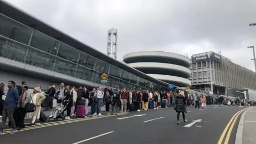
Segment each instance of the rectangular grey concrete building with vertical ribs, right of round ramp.
[[214,52],[193,54],[190,69],[191,89],[196,91],[234,97],[245,89],[256,90],[254,71]]

